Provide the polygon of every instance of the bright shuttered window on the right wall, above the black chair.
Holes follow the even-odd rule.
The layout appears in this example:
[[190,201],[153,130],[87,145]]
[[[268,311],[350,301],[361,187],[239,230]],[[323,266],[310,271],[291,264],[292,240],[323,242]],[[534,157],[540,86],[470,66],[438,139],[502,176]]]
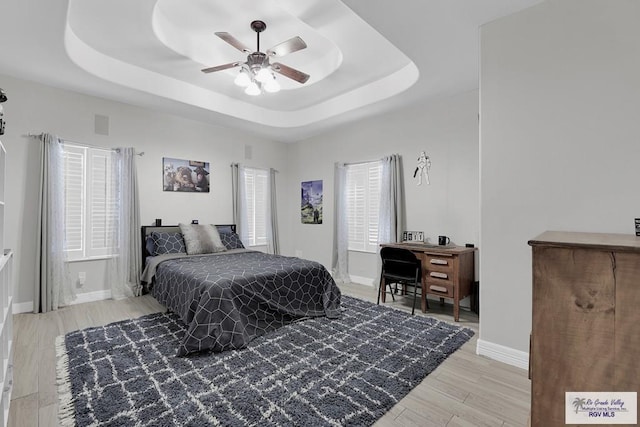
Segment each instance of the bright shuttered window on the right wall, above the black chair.
[[349,250],[378,250],[381,162],[347,165],[346,198]]

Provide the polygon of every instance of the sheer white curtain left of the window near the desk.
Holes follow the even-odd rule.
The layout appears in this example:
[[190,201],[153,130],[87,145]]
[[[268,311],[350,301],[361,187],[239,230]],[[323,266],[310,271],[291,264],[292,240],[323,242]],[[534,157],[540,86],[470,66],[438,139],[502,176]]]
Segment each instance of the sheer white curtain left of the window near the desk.
[[349,283],[349,230],[347,222],[347,168],[336,163],[334,170],[334,227],[333,227],[333,279],[336,283]]

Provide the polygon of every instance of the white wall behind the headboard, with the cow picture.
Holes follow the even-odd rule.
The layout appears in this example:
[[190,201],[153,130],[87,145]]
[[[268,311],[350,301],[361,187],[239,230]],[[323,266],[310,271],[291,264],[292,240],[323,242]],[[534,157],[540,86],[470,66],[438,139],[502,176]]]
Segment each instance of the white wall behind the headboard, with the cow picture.
[[[250,134],[160,114],[75,92],[0,75],[0,87],[9,100],[3,104],[7,121],[2,141],[7,149],[5,247],[15,251],[16,303],[33,300],[35,280],[38,148],[28,133],[50,132],[72,141],[101,147],[133,146],[145,155],[137,159],[141,220],[163,224],[198,219],[201,223],[229,223],[231,162],[280,171],[278,186],[287,180],[286,145]],[[94,132],[95,114],[108,116],[109,136]],[[253,156],[244,159],[245,145]],[[162,191],[162,157],[210,162],[208,194]],[[286,193],[279,192],[284,205]],[[285,228],[284,224],[280,226]],[[105,290],[104,262],[70,264],[72,273],[87,272],[79,293]]]

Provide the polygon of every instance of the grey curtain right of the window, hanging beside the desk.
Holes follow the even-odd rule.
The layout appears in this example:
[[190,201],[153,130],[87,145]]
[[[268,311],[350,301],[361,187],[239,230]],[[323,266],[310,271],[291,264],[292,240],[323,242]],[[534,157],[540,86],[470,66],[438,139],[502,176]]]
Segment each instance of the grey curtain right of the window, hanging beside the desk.
[[404,212],[402,165],[398,154],[382,158],[378,243],[395,243],[402,237]]

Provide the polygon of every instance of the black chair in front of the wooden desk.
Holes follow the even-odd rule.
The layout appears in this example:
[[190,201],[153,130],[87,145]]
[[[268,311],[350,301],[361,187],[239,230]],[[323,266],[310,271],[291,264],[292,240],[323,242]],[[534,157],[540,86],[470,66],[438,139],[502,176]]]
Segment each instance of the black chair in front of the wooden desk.
[[401,284],[403,289],[405,286],[413,286],[413,308],[411,314],[416,310],[416,296],[418,287],[420,287],[420,296],[422,297],[422,263],[415,254],[408,249],[384,247],[380,249],[380,257],[382,258],[382,272],[380,273],[380,285],[378,286],[378,302],[380,304],[380,294],[382,293],[382,283],[384,282],[384,292],[387,292],[387,285],[393,296],[393,288],[391,284]]

